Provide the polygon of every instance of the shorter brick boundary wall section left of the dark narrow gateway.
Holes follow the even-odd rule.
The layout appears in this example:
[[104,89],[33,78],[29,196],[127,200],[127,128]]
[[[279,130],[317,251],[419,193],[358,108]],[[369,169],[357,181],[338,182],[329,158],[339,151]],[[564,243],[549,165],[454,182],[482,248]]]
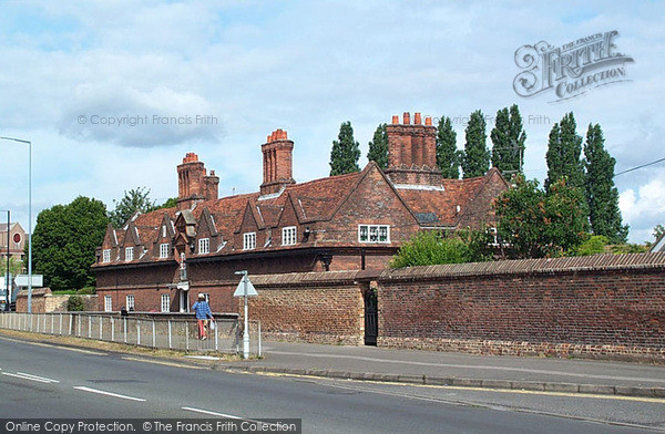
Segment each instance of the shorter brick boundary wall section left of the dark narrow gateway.
[[[357,271],[252,276],[259,297],[249,319],[268,339],[358,345],[365,339],[365,308]],[[243,298],[238,298],[243,314]]]

